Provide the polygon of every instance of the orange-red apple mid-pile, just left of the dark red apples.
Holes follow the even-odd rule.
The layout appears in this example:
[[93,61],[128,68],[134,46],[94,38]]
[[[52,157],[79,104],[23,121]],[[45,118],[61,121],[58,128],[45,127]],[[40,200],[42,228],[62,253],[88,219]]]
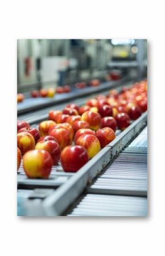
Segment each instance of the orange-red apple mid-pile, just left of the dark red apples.
[[86,111],[81,116],[82,121],[86,121],[89,124],[89,128],[96,131],[101,125],[101,116],[99,113],[92,111]]

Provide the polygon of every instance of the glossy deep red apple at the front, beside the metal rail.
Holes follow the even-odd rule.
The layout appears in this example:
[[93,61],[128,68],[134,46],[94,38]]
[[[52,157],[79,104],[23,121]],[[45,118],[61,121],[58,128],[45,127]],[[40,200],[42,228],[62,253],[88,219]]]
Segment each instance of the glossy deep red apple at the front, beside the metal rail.
[[81,146],[68,146],[61,152],[64,172],[77,172],[88,160],[86,149]]

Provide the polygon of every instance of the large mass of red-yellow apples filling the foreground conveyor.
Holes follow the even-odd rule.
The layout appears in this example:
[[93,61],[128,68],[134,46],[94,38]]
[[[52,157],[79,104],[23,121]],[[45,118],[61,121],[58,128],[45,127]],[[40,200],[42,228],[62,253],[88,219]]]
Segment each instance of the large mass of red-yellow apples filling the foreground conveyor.
[[115,139],[117,127],[125,129],[146,110],[147,82],[142,81],[81,107],[68,104],[63,111],[52,110],[38,129],[18,121],[18,168],[23,156],[27,177],[48,177],[59,160],[65,172],[76,172]]

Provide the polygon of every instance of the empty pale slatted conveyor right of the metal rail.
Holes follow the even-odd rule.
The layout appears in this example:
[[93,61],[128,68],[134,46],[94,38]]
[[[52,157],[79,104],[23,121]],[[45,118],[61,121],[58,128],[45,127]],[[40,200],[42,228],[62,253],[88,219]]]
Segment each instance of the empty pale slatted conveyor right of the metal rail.
[[147,215],[147,127],[105,168],[67,215]]

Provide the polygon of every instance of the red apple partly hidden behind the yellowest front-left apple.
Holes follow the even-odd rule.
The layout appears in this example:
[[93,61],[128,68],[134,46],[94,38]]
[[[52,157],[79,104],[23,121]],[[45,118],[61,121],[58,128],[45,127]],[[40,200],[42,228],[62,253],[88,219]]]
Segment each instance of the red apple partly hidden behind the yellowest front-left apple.
[[40,141],[35,145],[35,149],[44,149],[48,151],[52,157],[53,165],[57,165],[60,160],[61,149],[55,140]]

